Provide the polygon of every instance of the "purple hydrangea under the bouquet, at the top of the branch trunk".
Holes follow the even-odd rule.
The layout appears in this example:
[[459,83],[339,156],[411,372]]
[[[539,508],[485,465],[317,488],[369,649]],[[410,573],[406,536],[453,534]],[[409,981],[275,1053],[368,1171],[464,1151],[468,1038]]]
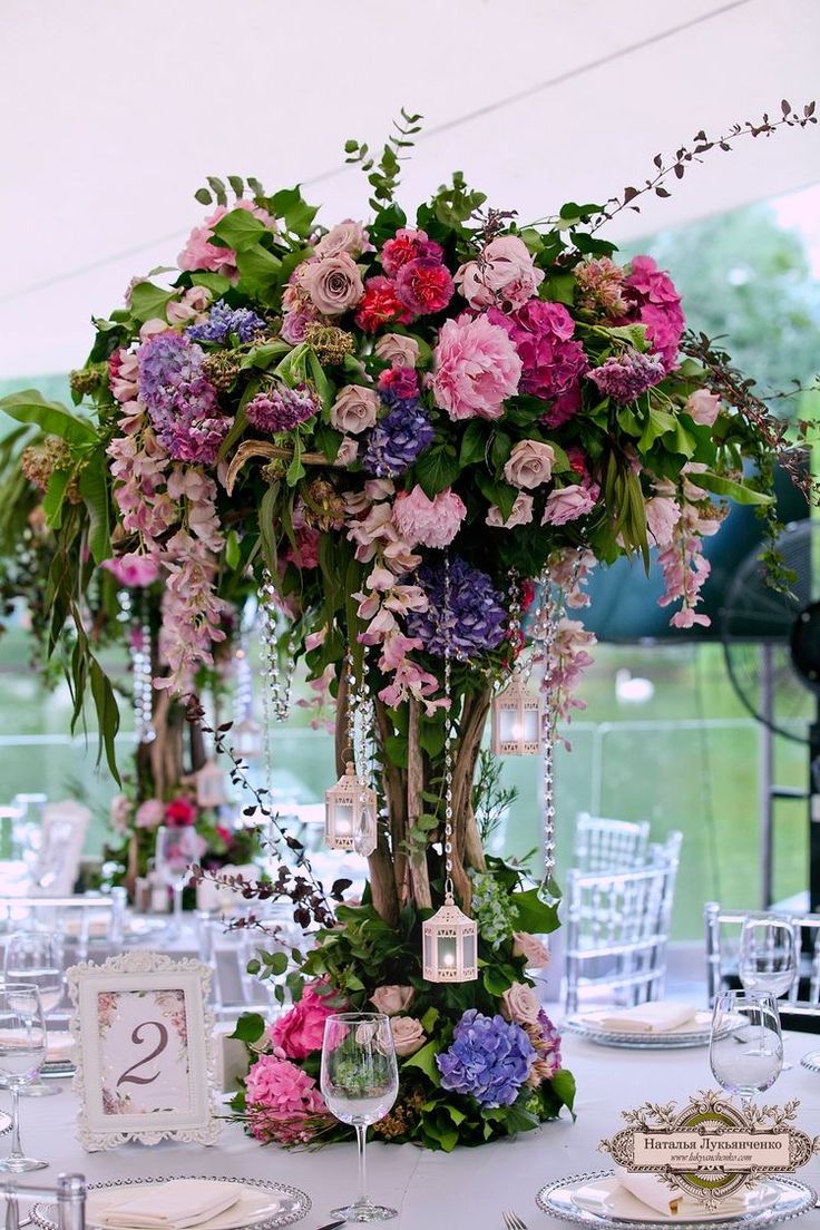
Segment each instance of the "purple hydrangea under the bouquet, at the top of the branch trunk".
[[407,613],[407,635],[418,636],[438,657],[473,657],[494,649],[507,631],[503,595],[486,572],[456,556],[450,562],[450,611],[445,620],[444,562],[424,563],[418,582],[429,603],[425,611]]

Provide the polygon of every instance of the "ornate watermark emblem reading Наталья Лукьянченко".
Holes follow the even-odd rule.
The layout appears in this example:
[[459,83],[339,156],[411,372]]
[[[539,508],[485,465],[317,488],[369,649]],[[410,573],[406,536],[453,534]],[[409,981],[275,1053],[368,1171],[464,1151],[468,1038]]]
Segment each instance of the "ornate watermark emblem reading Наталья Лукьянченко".
[[627,1127],[599,1149],[618,1166],[655,1173],[714,1210],[741,1188],[795,1171],[820,1153],[820,1137],[794,1125],[799,1105],[739,1108],[704,1090],[680,1112],[675,1102],[644,1102],[623,1111]]

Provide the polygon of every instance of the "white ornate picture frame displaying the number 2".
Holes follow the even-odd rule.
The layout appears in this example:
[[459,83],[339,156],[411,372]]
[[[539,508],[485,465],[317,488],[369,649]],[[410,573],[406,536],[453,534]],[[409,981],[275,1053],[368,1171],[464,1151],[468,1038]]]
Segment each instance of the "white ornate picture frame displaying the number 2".
[[219,1135],[211,970],[129,952],[68,970],[81,1145],[213,1144]]

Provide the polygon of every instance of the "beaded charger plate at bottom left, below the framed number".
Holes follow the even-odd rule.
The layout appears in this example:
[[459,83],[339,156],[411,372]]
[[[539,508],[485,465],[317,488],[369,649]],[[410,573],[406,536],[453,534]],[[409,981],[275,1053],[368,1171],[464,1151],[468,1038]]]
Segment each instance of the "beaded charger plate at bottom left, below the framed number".
[[[167,1183],[172,1178],[195,1178],[197,1182],[236,1183],[242,1188],[237,1204],[215,1218],[200,1221],[191,1230],[274,1230],[301,1221],[310,1212],[310,1197],[298,1187],[286,1183],[269,1183],[256,1178],[218,1178],[215,1175],[162,1175],[157,1178],[120,1178],[113,1183],[89,1183],[86,1199],[86,1226],[104,1228],[107,1223],[101,1215],[109,1205],[106,1197],[122,1193],[123,1199],[130,1199],[157,1183]],[[58,1230],[57,1203],[54,1200],[34,1204],[32,1221],[41,1230]]]

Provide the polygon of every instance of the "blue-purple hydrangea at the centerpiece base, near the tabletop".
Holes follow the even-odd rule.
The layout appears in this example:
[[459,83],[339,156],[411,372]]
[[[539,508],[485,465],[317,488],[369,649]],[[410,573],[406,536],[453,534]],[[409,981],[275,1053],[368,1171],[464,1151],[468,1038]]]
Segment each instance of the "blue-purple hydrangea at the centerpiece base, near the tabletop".
[[444,1089],[471,1093],[481,1106],[511,1106],[535,1058],[535,1047],[520,1025],[471,1007],[435,1064]]

